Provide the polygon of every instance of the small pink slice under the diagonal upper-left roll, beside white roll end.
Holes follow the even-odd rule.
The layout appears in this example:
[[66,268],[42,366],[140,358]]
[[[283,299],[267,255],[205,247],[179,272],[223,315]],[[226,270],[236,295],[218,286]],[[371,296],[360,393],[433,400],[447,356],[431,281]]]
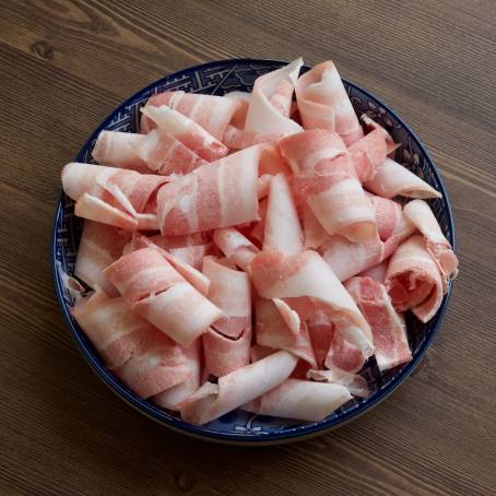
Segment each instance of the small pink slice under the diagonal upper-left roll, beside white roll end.
[[157,130],[142,137],[135,153],[150,170],[161,176],[189,174],[208,162],[170,134]]

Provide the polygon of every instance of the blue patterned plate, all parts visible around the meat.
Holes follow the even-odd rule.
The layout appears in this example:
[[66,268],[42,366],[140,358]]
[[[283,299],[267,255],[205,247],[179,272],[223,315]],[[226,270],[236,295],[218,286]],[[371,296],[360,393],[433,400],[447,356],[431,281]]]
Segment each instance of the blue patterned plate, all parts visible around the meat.
[[[286,62],[275,60],[233,59],[211,62],[176,72],[140,91],[116,110],[93,132],[80,151],[76,161],[92,163],[91,152],[98,133],[104,130],[138,132],[140,107],[147,98],[166,90],[223,95],[231,91],[251,91],[253,81],[261,74],[279,69]],[[303,72],[309,68],[305,67]],[[454,245],[454,233],[449,200],[436,167],[410,128],[385,104],[368,92],[344,81],[346,91],[357,115],[366,113],[382,125],[401,146],[397,150],[395,160],[421,176],[434,188],[442,192],[441,199],[429,200],[430,206],[439,221],[447,238]],[[283,442],[308,437],[342,425],[344,422],[364,413],[389,395],[415,368],[440,326],[446,311],[451,283],[441,308],[434,319],[423,324],[412,316],[408,316],[409,340],[413,352],[413,361],[399,366],[382,376],[379,374],[375,359],[368,361],[363,377],[366,378],[371,394],[367,399],[356,399],[317,423],[302,423],[285,418],[253,415],[243,411],[231,412],[205,426],[192,426],[182,422],[176,414],[158,409],[154,403],[137,398],[126,386],[105,368],[93,345],[70,316],[73,305],[69,291],[64,287],[66,274],[71,275],[74,269],[82,220],[74,215],[74,203],[66,194],[61,194],[56,210],[52,236],[52,265],[57,296],[62,314],[68,322],[72,336],[84,357],[96,374],[114,392],[129,404],[168,427],[186,432],[193,436],[227,442]]]

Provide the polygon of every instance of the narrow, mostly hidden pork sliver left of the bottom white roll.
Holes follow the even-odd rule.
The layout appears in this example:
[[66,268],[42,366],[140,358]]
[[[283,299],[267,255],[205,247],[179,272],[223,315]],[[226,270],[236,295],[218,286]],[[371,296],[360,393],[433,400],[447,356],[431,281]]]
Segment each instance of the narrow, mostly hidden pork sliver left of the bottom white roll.
[[190,375],[187,379],[178,385],[166,389],[165,391],[153,397],[153,401],[164,409],[178,411],[178,405],[190,397],[200,387],[201,373],[201,342],[193,341],[187,349],[184,350],[186,366],[189,368]]

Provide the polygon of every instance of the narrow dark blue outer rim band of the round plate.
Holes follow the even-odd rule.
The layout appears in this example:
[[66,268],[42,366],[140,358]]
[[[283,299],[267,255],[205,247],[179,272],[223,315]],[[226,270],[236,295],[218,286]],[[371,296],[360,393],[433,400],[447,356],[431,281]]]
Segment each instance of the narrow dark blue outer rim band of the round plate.
[[[78,153],[78,156],[75,158],[76,162],[81,162],[82,156],[84,154],[84,151],[91,145],[91,143],[96,139],[98,133],[114,119],[114,116],[126,109],[126,107],[129,106],[129,104],[140,97],[140,95],[150,92],[161,83],[165,83],[168,79],[172,76],[179,78],[190,71],[199,71],[199,70],[205,70],[214,66],[219,64],[234,64],[233,70],[236,68],[237,63],[267,63],[267,64],[286,64],[288,63],[287,61],[284,60],[276,60],[276,59],[255,59],[255,58],[233,58],[233,59],[224,59],[224,60],[216,60],[216,61],[211,61],[206,63],[201,63],[197,66],[191,66],[185,69],[181,69],[180,71],[177,72],[172,72],[170,74],[167,74],[153,83],[146,85],[145,87],[139,90],[128,98],[126,98],[120,105],[118,105],[114,110],[111,110],[108,116],[96,127],[96,129],[91,133],[90,138],[84,142],[83,146],[81,147],[80,152]],[[311,69],[308,66],[304,66],[303,68],[305,69]],[[449,200],[449,196],[447,193],[444,180],[441,176],[439,175],[439,172],[430,157],[429,153],[427,152],[426,147],[422,143],[422,141],[418,139],[416,133],[408,126],[403,119],[401,119],[398,114],[392,110],[388,105],[386,105],[381,99],[376,97],[373,93],[370,93],[367,90],[364,90],[362,86],[352,83],[351,81],[346,79],[342,79],[350,87],[357,90],[358,92],[363,93],[366,95],[368,98],[374,101],[378,106],[385,108],[400,125],[401,127],[406,131],[406,133],[412,138],[412,140],[415,142],[417,147],[422,151],[422,153],[425,156],[425,161],[427,162],[429,169],[435,177],[435,179],[438,181],[440,192],[442,194],[442,198],[445,199],[446,203],[446,212],[447,212],[447,223],[448,223],[448,231],[451,234],[451,244],[453,247],[453,250],[456,249],[456,236],[454,236],[454,223],[453,223],[453,215],[451,211],[451,203]],[[425,356],[425,353],[427,350],[430,347],[434,339],[436,338],[440,324],[442,322],[444,316],[446,314],[447,307],[448,307],[448,302],[451,296],[451,290],[452,290],[452,281],[450,281],[449,286],[448,286],[448,292],[442,298],[442,303],[438,311],[436,312],[436,316],[434,319],[430,321],[432,329],[426,333],[426,336],[424,341],[422,342],[421,346],[418,347],[415,357],[408,363],[406,365],[403,366],[401,371],[398,373],[395,377],[392,377],[388,382],[386,382],[382,387],[380,387],[373,395],[365,400],[364,402],[359,403],[356,405],[356,408],[352,408],[349,411],[344,412],[336,418],[331,418],[331,420],[323,420],[320,422],[316,423],[306,423],[306,424],[300,424],[296,425],[294,427],[287,428],[283,432],[280,433],[260,433],[259,435],[250,435],[246,436],[243,434],[238,433],[222,433],[219,430],[210,430],[205,427],[202,426],[197,426],[189,424],[187,422],[181,421],[180,418],[175,418],[175,417],[167,417],[165,416],[165,412],[163,412],[158,406],[155,406],[153,403],[142,400],[138,398],[135,394],[133,394],[130,390],[125,388],[118,379],[102,364],[99,364],[96,359],[96,357],[91,353],[91,351],[87,350],[85,343],[81,340],[80,331],[78,331],[74,328],[74,324],[71,320],[70,314],[68,306],[64,304],[63,300],[63,290],[60,284],[60,280],[57,276],[57,270],[58,270],[58,261],[56,258],[56,252],[57,252],[57,224],[59,216],[62,214],[62,192],[59,193],[58,196],[58,202],[55,211],[55,216],[54,216],[54,225],[52,225],[52,231],[51,231],[51,244],[50,244],[50,259],[51,259],[51,269],[52,269],[52,277],[54,277],[54,284],[55,284],[55,291],[57,295],[57,299],[59,302],[59,306],[61,308],[63,318],[66,320],[67,326],[69,327],[71,336],[73,341],[75,342],[78,349],[80,350],[81,354],[83,357],[86,359],[86,362],[90,364],[92,369],[95,371],[95,374],[101,378],[101,380],[109,387],[114,393],[116,393],[120,399],[122,399],[126,403],[128,403],[130,406],[133,409],[140,411],[140,413],[144,414],[149,418],[152,418],[153,421],[157,422],[158,424],[168,427],[175,432],[180,432],[184,434],[187,434],[189,436],[196,437],[196,438],[201,438],[203,440],[210,440],[210,441],[216,441],[216,442],[222,442],[222,444],[229,444],[229,445],[259,445],[259,446],[267,446],[267,445],[276,445],[276,444],[284,444],[284,442],[292,442],[296,440],[302,440],[306,439],[309,437],[314,437],[320,434],[324,434],[329,430],[332,430],[334,428],[341,427],[344,424],[358,418],[366,412],[370,411],[373,408],[377,406],[382,400],[388,398],[400,385],[402,385],[413,373],[413,370],[417,367],[417,365],[422,362],[423,357]]]

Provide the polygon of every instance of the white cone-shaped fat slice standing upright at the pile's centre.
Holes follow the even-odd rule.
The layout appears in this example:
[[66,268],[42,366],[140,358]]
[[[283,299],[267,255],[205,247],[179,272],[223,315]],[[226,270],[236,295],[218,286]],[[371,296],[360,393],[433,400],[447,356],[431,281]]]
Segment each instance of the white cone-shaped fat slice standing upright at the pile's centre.
[[263,250],[296,255],[303,250],[303,232],[290,185],[284,174],[271,181]]

